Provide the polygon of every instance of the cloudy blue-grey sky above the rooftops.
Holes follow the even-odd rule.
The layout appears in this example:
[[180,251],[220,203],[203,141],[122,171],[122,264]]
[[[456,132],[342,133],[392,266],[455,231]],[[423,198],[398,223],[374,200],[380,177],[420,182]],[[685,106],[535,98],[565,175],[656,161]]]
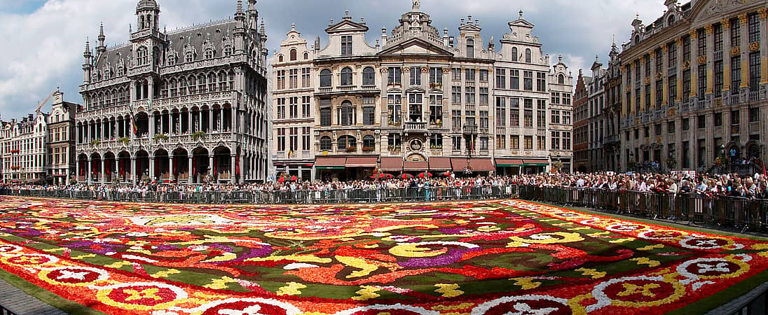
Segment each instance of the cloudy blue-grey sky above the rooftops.
[[[247,3],[247,1],[245,1]],[[157,0],[161,25],[172,31],[211,20],[231,18],[237,0]],[[0,119],[10,120],[33,113],[37,104],[57,87],[65,100],[82,103],[83,51],[86,38],[96,44],[104,23],[108,47],[127,42],[129,25],[135,28],[137,0],[0,0]],[[267,48],[272,54],[286,38],[291,23],[312,44],[329,21],[340,21],[344,11],[355,21],[365,18],[371,45],[381,38],[381,28],[392,31],[402,13],[411,10],[409,0],[260,0],[257,10],[266,23]],[[588,68],[595,56],[606,64],[611,41],[627,41],[635,15],[654,21],[664,13],[664,0],[422,0],[421,11],[432,17],[432,26],[458,34],[461,18],[480,21],[486,43],[509,31],[508,22],[524,11],[535,26],[542,50],[557,62],[568,64],[574,81],[578,70]],[[50,111],[48,102],[43,111]]]

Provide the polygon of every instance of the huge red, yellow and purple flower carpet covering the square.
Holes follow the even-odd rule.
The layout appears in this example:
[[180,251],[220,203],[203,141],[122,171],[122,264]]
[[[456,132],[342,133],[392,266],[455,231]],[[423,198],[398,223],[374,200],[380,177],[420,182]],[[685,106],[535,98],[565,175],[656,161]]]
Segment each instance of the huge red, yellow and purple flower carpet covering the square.
[[517,200],[3,197],[0,267],[104,313],[655,314],[764,277],[768,243]]

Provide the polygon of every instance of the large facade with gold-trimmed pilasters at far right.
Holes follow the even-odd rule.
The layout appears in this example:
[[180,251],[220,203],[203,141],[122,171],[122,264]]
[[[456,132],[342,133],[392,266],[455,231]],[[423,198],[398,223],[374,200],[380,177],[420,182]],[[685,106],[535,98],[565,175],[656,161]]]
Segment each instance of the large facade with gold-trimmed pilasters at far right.
[[665,5],[651,25],[632,21],[621,53],[621,164],[705,171],[721,156],[765,160],[765,2]]

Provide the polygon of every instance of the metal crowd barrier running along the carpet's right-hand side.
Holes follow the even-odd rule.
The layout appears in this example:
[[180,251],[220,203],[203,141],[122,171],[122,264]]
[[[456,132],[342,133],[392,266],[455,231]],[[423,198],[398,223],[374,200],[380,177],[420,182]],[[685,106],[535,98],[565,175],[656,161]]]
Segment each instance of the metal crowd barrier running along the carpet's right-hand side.
[[595,208],[653,219],[700,222],[741,231],[768,230],[768,200],[707,197],[697,194],[618,192],[607,189],[520,186],[519,198],[558,205]]

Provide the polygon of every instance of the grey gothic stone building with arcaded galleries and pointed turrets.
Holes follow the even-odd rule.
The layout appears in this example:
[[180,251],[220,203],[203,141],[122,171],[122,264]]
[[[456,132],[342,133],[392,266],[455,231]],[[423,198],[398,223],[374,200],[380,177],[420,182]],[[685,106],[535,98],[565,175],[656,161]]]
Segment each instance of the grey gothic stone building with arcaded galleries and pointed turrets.
[[84,52],[78,180],[265,180],[267,51],[255,5],[165,31],[160,6],[141,0],[130,43],[110,49],[102,28],[96,52]]

